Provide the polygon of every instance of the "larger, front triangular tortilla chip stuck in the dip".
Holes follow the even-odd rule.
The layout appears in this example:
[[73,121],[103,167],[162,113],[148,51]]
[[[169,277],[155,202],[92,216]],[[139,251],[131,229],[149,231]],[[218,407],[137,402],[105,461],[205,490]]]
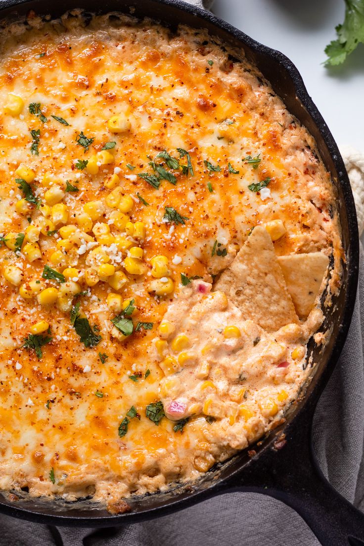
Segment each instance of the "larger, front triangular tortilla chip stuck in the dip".
[[214,286],[268,332],[298,323],[270,235],[257,226]]

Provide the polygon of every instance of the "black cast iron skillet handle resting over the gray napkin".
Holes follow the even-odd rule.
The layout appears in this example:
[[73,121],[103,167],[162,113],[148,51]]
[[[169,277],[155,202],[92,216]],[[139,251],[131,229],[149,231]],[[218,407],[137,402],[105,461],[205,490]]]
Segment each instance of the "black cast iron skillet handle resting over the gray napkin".
[[364,514],[332,488],[315,460],[313,411],[303,408],[287,436],[277,436],[275,448],[253,456],[230,487],[281,500],[301,515],[322,546],[364,546]]

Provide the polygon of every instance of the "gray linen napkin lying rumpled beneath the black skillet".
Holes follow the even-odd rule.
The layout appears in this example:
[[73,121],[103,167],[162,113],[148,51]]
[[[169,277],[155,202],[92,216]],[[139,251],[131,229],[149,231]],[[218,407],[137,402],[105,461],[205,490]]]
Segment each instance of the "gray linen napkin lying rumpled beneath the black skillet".
[[[189,2],[202,7],[202,0]],[[348,164],[348,168],[353,169],[353,165]],[[351,183],[356,191],[359,185],[362,198],[364,180],[356,176]],[[362,199],[356,204],[362,206]],[[359,216],[362,218],[361,213]],[[364,510],[363,271],[361,246],[353,320],[339,363],[315,413],[314,447],[331,484]],[[319,546],[312,531],[291,508],[253,493],[222,495],[158,520],[121,528],[56,528],[2,515],[0,530],[1,546]]]

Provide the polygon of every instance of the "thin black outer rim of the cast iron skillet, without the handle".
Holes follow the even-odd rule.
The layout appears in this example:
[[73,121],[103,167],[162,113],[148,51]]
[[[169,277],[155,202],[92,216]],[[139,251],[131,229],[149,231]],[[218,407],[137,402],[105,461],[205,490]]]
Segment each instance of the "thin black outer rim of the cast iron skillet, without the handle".
[[[310,385],[310,388],[312,387],[311,390],[310,388],[308,389],[308,392],[305,394],[303,401],[300,403],[300,407],[294,412],[294,415],[289,420],[289,422],[286,425],[284,425],[283,430],[286,433],[288,433],[290,430],[294,428],[294,424],[297,421],[297,417],[299,417],[303,412],[309,413],[310,407],[312,410],[314,409],[315,403],[318,401],[319,396],[321,392],[323,391],[333,371],[333,368],[335,367],[335,364],[339,358],[339,355],[342,351],[342,348],[344,346],[344,342],[349,330],[351,316],[354,310],[357,280],[358,280],[358,274],[359,274],[359,233],[357,228],[354,198],[351,192],[350,183],[349,183],[347,172],[345,170],[343,159],[339,153],[336,142],[333,139],[333,136],[331,135],[329,128],[327,127],[327,124],[325,123],[323,117],[321,116],[320,112],[318,111],[317,107],[313,103],[313,100],[311,99],[311,97],[309,96],[306,90],[306,86],[303,83],[303,79],[299,73],[299,70],[296,68],[294,63],[289,60],[287,56],[282,54],[282,52],[269,48],[268,46],[265,46],[263,44],[260,44],[258,41],[254,40],[253,38],[250,38],[244,32],[230,25],[230,23],[223,21],[222,19],[219,19],[219,17],[217,17],[216,15],[213,15],[210,11],[205,11],[204,9],[201,9],[191,4],[188,4],[186,2],[183,2],[182,0],[131,0],[128,3],[128,6],[130,7],[133,5],[134,6],[138,5],[138,7],[140,7],[140,4],[143,4],[144,2],[146,2],[150,6],[152,4],[157,4],[157,5],[162,4],[167,9],[168,7],[171,9],[172,8],[181,9],[184,13],[187,13],[189,16],[195,16],[196,19],[194,22],[201,21],[202,25],[204,22],[210,23],[210,25],[215,27],[217,31],[222,29],[223,31],[231,35],[232,38],[234,38],[241,44],[243,49],[244,49],[244,46],[247,45],[248,48],[250,48],[252,51],[259,52],[259,54],[263,54],[266,57],[270,58],[273,62],[281,65],[283,69],[285,70],[285,72],[289,75],[291,81],[293,82],[294,89],[296,92],[296,98],[299,99],[299,102],[301,103],[301,105],[306,109],[309,118],[311,118],[315,127],[317,127],[318,132],[321,134],[323,141],[327,147],[327,150],[329,151],[329,155],[331,157],[333,166],[335,167],[338,184],[341,187],[342,196],[343,196],[344,212],[346,212],[346,215],[347,215],[347,222],[348,222],[347,235],[350,240],[348,248],[346,250],[346,256],[348,261],[346,286],[342,287],[342,290],[345,290],[345,293],[344,293],[345,304],[343,306],[341,324],[339,325],[338,334],[336,336],[335,342],[333,343],[331,354],[327,358],[327,364],[325,366],[324,365],[321,366],[323,369],[320,370],[319,375],[316,374],[318,375],[318,377],[315,379],[315,381],[312,381]],[[37,4],[39,3],[40,3],[39,0],[4,0],[4,2],[0,6],[0,17],[3,15],[4,11],[9,11],[11,10],[11,8],[14,9],[18,5],[22,8],[22,11],[25,11],[27,4],[29,4],[29,9],[37,10]],[[76,1],[72,3],[76,5],[78,4]],[[82,2],[81,0],[80,4],[82,3],[84,2]],[[114,0],[111,0],[111,3],[115,3]],[[65,13],[65,11],[67,11],[68,9],[70,8],[65,7],[59,10],[59,8],[55,7],[54,9],[47,9],[47,13],[49,13],[50,11],[53,11],[53,13],[55,11],[57,11],[57,13],[58,12]],[[106,1],[105,6],[103,8],[94,9],[90,11],[92,11],[92,13],[108,13],[108,11],[117,11],[117,10],[118,9],[115,7],[115,5],[114,5],[114,8],[109,7],[108,1]],[[43,11],[44,10],[41,10],[41,13],[43,13]],[[126,5],[124,4],[121,5],[120,11],[121,13],[126,13],[127,11]],[[6,19],[8,15],[9,14],[5,15],[4,19]],[[156,20],[160,20],[160,18],[156,17]],[[168,22],[166,20],[168,21],[168,17],[166,17],[162,21],[162,24],[168,26]],[[193,21],[189,21],[186,24],[192,27],[203,28],[202,25],[200,26],[194,25]],[[209,33],[211,34],[210,30],[209,30]],[[263,75],[264,75],[264,72],[263,72]],[[339,217],[341,218],[341,214],[339,215]],[[319,365],[317,365],[317,369],[319,369]],[[275,435],[274,434],[270,435],[270,438],[268,438],[267,441],[264,442],[264,446],[262,446],[259,449],[258,457],[262,456],[267,450],[270,450],[275,440],[276,440]],[[244,452],[241,452],[235,455],[233,459],[234,460],[242,459],[243,453]],[[235,470],[232,470],[230,474],[228,475],[229,481],[231,482],[231,478],[235,478],[239,480],[244,472],[244,468],[246,468],[249,465],[249,462],[250,461],[242,461],[241,464],[238,464],[238,467]],[[199,482],[196,482],[196,483],[199,483]],[[118,514],[118,515],[108,514],[108,515],[100,516],[100,517],[94,517],[94,515],[91,515],[91,517],[90,516],[80,517],[77,515],[62,515],[62,513],[59,513],[59,512],[57,513],[57,508],[53,509],[53,513],[51,513],[51,509],[44,512],[37,512],[31,509],[28,510],[27,508],[24,508],[24,507],[18,507],[5,499],[4,499],[5,502],[0,500],[0,512],[11,515],[13,517],[31,520],[36,523],[44,523],[44,524],[52,524],[52,525],[64,525],[64,526],[74,526],[74,527],[114,526],[114,525],[130,524],[136,521],[142,521],[142,520],[152,519],[154,517],[167,515],[171,512],[175,512],[177,510],[187,508],[188,506],[193,505],[195,502],[200,502],[205,500],[206,498],[222,493],[224,492],[224,490],[226,490],[226,488],[227,488],[227,485],[225,483],[225,480],[222,478],[217,478],[216,482],[210,484],[209,486],[207,486],[207,488],[202,488],[200,490],[196,490],[193,492],[184,492],[182,493],[182,495],[180,494],[179,496],[176,496],[175,497],[176,500],[174,500],[174,497],[171,497],[171,500],[167,501],[166,504],[162,504],[161,506],[147,508],[145,511],[142,511],[142,512],[129,512],[129,513]],[[148,498],[152,498],[152,497],[153,495],[148,496]],[[71,511],[76,513],[77,508],[71,509]],[[50,513],[47,513],[47,512],[50,512]],[[56,515],[54,512],[56,512]],[[98,512],[101,512],[101,511],[98,511]],[[105,511],[103,512],[106,513]],[[91,513],[91,511],[89,511],[89,513]]]

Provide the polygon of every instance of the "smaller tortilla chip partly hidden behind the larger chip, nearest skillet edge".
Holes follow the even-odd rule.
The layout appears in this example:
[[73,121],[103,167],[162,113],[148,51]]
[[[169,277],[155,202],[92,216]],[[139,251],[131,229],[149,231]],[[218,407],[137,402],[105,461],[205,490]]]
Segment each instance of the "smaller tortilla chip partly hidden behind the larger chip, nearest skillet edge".
[[290,254],[280,256],[278,263],[298,316],[306,318],[319,293],[329,258],[322,252]]

